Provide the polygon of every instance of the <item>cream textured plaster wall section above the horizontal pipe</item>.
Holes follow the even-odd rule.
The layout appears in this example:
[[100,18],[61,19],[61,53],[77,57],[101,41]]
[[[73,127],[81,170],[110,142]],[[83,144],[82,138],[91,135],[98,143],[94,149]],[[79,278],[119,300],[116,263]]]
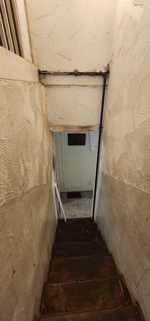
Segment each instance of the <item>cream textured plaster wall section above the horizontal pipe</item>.
[[40,70],[105,71],[115,0],[26,0],[33,60]]

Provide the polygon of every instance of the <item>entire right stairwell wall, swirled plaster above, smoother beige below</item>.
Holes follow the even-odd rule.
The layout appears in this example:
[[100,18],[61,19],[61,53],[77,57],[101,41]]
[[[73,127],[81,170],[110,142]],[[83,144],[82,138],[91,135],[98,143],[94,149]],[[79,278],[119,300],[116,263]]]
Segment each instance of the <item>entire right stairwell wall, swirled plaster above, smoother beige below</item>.
[[150,320],[150,1],[118,2],[96,221]]

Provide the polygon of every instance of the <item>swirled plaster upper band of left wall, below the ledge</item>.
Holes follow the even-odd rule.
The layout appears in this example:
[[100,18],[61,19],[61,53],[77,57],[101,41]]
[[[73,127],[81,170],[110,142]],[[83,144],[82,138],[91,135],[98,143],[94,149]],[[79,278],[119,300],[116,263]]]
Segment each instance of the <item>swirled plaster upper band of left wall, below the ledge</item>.
[[1,80],[1,205],[33,186],[46,184],[48,171],[45,88]]

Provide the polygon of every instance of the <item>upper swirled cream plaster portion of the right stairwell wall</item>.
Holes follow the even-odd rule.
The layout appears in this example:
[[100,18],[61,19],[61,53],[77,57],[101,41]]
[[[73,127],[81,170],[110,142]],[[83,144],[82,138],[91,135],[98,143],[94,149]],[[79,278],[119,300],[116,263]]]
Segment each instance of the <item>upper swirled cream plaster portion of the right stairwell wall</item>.
[[143,3],[119,1],[103,158],[110,176],[149,193],[150,1]]

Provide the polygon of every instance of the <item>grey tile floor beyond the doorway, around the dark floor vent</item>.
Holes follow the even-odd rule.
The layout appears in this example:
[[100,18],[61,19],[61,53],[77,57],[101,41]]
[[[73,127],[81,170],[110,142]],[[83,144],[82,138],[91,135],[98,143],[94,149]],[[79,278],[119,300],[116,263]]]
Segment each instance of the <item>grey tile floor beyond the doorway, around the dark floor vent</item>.
[[60,197],[67,219],[91,216],[93,191],[81,192],[81,198],[67,199],[67,193],[60,193]]

